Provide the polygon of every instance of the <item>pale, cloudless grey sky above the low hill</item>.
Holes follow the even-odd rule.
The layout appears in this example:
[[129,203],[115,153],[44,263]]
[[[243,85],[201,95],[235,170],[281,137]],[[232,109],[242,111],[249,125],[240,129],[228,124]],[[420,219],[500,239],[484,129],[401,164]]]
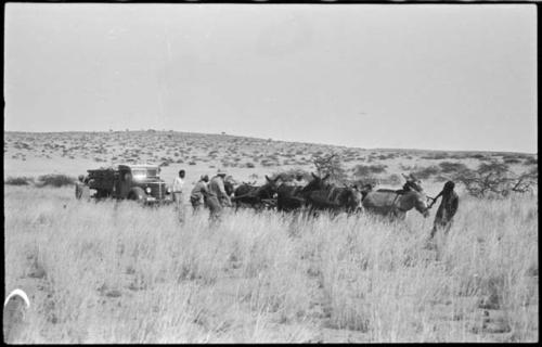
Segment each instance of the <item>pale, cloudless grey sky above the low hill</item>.
[[5,131],[537,153],[534,4],[8,3]]

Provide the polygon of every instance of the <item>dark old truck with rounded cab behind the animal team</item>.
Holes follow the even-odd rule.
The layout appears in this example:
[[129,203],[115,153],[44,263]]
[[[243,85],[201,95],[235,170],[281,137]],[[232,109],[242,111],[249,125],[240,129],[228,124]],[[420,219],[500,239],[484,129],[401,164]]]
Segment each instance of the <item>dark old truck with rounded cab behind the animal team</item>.
[[120,164],[87,172],[83,190],[95,191],[90,197],[131,200],[145,205],[172,203],[171,189],[160,179],[157,165]]

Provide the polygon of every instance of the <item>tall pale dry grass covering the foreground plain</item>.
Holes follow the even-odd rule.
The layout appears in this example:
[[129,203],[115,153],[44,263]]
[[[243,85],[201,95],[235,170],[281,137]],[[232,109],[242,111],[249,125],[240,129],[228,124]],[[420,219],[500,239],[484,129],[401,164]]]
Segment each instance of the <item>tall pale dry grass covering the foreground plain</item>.
[[[86,203],[7,187],[5,285],[33,301],[21,342],[534,342],[538,198],[462,197],[431,219],[294,218]],[[431,216],[433,217],[433,216]]]

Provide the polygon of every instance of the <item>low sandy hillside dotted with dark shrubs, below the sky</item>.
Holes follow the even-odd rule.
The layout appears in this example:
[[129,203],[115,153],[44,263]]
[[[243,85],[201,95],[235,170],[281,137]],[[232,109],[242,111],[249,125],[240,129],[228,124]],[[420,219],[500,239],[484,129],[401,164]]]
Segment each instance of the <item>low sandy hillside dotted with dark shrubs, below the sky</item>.
[[[172,179],[184,168],[189,181],[225,169],[238,180],[262,181],[264,175],[288,169],[313,170],[313,158],[337,154],[350,175],[357,166],[391,183],[401,172],[437,178],[442,163],[505,163],[520,172],[538,164],[537,155],[506,152],[359,149],[328,144],[274,141],[230,134],[179,131],[4,132],[4,177],[61,172],[77,176],[87,169],[119,163],[150,163]],[[433,176],[433,177],[431,177]]]

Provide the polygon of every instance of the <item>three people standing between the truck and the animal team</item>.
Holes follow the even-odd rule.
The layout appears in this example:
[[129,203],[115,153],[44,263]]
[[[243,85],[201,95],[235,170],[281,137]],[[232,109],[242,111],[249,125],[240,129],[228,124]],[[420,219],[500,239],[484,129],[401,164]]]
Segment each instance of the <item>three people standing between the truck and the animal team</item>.
[[[219,170],[216,176],[209,180],[209,176],[204,175],[196,182],[190,193],[190,203],[194,213],[204,205],[209,208],[210,219],[217,221],[220,219],[223,207],[231,206],[232,202],[224,189],[224,179],[227,174]],[[179,218],[184,219],[183,207],[183,185],[185,171],[180,170],[179,176],[175,178],[172,184],[173,202],[176,203]]]

